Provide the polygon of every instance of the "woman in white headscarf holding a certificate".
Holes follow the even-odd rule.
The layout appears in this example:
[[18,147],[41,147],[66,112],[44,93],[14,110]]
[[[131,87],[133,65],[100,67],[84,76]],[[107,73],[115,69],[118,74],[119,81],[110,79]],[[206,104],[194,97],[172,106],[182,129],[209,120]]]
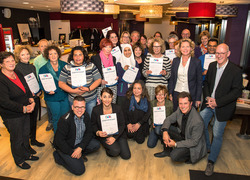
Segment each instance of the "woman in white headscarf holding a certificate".
[[126,92],[129,84],[135,79],[140,79],[141,73],[139,65],[134,59],[133,50],[130,44],[122,45],[122,56],[116,64],[117,74],[119,77],[117,85],[117,104],[122,106],[126,100]]

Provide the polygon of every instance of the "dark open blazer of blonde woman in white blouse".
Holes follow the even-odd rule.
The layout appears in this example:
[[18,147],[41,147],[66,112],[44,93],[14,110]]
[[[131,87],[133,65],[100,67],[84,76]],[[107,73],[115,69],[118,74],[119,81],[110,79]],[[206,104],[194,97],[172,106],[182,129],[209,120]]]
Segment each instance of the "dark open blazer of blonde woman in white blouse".
[[[171,67],[171,77],[168,83],[169,94],[173,94],[175,85],[177,82],[178,69],[181,59],[179,57],[174,58]],[[188,67],[188,89],[193,101],[201,100],[202,92],[202,67],[201,60],[191,57]]]

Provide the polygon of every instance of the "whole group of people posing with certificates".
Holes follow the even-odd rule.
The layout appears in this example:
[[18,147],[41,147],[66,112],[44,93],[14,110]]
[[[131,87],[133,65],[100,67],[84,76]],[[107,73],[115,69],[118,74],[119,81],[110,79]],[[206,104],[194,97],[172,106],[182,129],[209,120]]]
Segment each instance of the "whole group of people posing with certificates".
[[[15,55],[1,52],[0,115],[10,132],[16,165],[29,169],[26,161],[39,159],[33,155],[36,152],[30,147],[29,137],[31,145],[44,146],[35,136],[37,104],[43,92],[49,118],[46,130],[53,129],[55,133],[55,162],[71,173],[83,174],[86,155],[98,150],[100,144],[108,156],[130,159],[127,138],[142,144],[149,135],[149,148],[154,148],[158,140],[163,144],[163,151],[155,153],[155,157],[196,163],[210,153],[205,174],[211,176],[225,126],[241,95],[241,70],[229,61],[229,47],[218,45],[207,31],[200,35],[200,46],[189,39],[188,29],[181,35],[178,40],[172,32],[164,41],[160,32],[147,39],[137,31],[131,36],[126,31],[119,41],[118,34],[111,30],[101,40],[97,55],[89,58],[83,47],[76,46],[67,63],[60,60],[60,49],[43,39],[39,42],[42,54],[36,57],[35,67],[29,64],[31,51],[27,46],[15,50]],[[112,56],[115,47],[121,51],[118,59]],[[167,57],[166,48],[175,49],[176,58]],[[199,59],[196,54],[200,54]],[[204,66],[206,54],[215,55],[208,68]],[[152,58],[163,61],[158,75],[150,69]],[[16,65],[15,60],[20,62]],[[117,73],[114,84],[105,79],[106,69],[112,67]],[[133,82],[123,79],[130,68],[138,68]],[[86,81],[76,86],[73,72],[80,69],[84,70],[82,78]],[[41,80],[48,74],[54,80],[53,91],[47,91]],[[39,83],[36,92],[28,81],[31,76]],[[155,122],[157,107],[165,112],[161,124]],[[118,131],[108,134],[102,127],[103,115],[114,114]],[[208,124],[212,117],[211,142]]]

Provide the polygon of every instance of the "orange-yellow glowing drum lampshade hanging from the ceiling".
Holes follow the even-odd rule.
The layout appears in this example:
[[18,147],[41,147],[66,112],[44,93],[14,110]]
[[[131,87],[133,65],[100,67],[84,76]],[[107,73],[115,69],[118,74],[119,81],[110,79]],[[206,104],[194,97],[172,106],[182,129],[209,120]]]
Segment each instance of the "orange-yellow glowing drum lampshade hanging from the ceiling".
[[144,18],[162,18],[162,6],[140,6],[140,17]]

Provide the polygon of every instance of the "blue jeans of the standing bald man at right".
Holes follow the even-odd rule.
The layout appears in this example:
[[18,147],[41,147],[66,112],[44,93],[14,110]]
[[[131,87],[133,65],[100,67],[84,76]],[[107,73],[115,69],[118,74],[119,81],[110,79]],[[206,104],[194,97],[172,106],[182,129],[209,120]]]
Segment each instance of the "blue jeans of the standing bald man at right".
[[[208,156],[208,160],[216,162],[218,155],[220,153],[223,134],[225,127],[227,125],[227,121],[218,121],[215,113],[215,109],[211,109],[209,107],[203,109],[200,112],[200,115],[205,124],[205,137],[206,137],[206,145],[207,150],[210,150],[210,154]],[[211,118],[214,116],[214,124],[213,124],[213,140],[210,143],[209,133],[208,133],[208,124]]]

